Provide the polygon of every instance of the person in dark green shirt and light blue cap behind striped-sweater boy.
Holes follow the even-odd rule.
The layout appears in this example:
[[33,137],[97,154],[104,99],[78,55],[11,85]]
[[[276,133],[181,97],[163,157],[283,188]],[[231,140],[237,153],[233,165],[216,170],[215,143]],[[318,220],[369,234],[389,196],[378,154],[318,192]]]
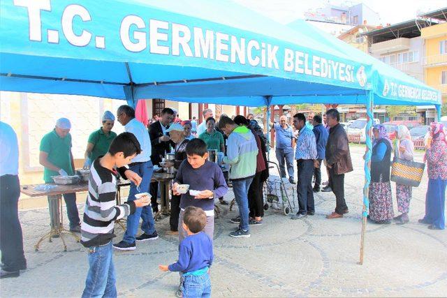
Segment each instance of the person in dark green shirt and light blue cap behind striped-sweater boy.
[[112,131],[113,125],[115,124],[115,115],[110,111],[105,111],[103,114],[103,126],[94,131],[89,136],[87,141],[87,149],[85,149],[85,162],[84,168],[90,167],[91,163],[98,158],[107,153],[110,143],[117,136],[116,133]]

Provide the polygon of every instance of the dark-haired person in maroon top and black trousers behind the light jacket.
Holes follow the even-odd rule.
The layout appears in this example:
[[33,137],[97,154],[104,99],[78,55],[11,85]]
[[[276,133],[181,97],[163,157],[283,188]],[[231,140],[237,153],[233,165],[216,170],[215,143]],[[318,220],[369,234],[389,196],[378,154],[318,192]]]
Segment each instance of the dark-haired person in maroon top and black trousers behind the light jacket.
[[[250,128],[250,121],[244,116],[237,115],[234,119],[238,126],[247,126]],[[255,121],[256,122],[256,121]],[[250,128],[251,129],[251,128]],[[256,131],[251,130],[256,139],[258,146],[258,155],[256,156],[256,173],[253,181],[250,184],[248,198],[249,198],[249,225],[261,225],[264,216],[264,196],[263,184],[268,179],[268,164],[267,156],[265,156],[265,143],[259,137]]]

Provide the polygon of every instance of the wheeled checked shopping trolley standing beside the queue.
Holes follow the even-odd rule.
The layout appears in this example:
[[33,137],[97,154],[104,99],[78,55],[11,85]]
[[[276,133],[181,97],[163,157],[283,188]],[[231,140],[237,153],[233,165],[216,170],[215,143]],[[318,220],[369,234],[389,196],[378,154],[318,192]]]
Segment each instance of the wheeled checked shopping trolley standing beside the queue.
[[[269,168],[277,167],[278,173],[279,166],[277,163],[267,161]],[[264,210],[268,210],[270,207],[275,210],[282,210],[285,215],[290,214],[295,209],[295,190],[292,184],[287,178],[281,178],[279,176],[270,175],[264,184]]]

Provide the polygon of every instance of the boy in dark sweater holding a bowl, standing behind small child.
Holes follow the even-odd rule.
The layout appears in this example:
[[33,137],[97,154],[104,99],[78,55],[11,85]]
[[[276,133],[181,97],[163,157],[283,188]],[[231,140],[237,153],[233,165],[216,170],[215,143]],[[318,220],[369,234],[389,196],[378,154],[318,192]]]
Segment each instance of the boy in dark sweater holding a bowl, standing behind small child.
[[[182,218],[186,207],[200,207],[205,211],[207,223],[205,233],[212,239],[214,234],[214,199],[221,198],[228,191],[223,172],[217,163],[207,161],[207,144],[200,139],[189,141],[186,145],[187,160],[183,161],[174,179],[173,193],[179,184],[189,184],[189,191],[182,194],[179,214],[179,241],[186,237],[182,227]],[[191,195],[191,191],[199,191]]]

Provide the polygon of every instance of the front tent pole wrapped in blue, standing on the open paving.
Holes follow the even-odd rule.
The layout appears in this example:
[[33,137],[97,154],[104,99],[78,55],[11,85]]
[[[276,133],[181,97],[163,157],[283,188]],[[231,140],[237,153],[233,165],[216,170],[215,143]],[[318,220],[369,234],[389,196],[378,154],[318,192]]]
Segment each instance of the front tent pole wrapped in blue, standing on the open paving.
[[369,210],[369,183],[371,182],[371,155],[372,155],[372,124],[374,119],[374,94],[372,90],[367,90],[366,112],[366,154],[365,154],[365,186],[363,186],[363,210],[362,210],[362,236],[360,239],[360,261],[359,265],[363,265],[363,254],[365,252],[365,234],[367,215]]

